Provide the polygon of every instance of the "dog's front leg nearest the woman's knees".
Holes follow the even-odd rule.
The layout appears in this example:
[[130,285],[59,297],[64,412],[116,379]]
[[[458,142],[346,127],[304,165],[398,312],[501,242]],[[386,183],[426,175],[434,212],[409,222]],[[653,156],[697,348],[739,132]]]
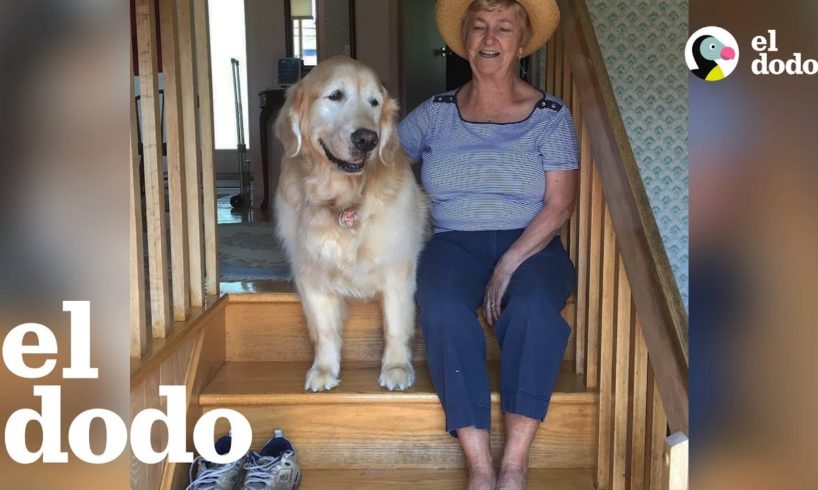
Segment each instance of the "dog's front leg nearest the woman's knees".
[[415,333],[415,268],[396,267],[387,274],[383,291],[384,337],[380,385],[405,390],[415,383],[411,342]]

